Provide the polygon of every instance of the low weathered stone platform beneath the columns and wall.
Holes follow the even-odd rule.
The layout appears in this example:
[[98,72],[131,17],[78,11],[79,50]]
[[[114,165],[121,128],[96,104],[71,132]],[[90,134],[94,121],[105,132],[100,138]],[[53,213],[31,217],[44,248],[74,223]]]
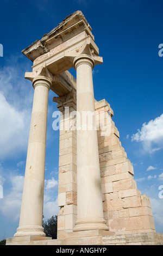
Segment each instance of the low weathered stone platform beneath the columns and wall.
[[91,231],[92,234],[87,233],[83,236],[74,232],[73,236],[76,237],[71,238],[65,238],[65,233],[60,233],[63,238],[54,240],[49,240],[50,237],[45,237],[46,240],[37,240],[38,237],[14,237],[7,239],[7,245],[163,245],[163,234],[155,232],[97,235],[97,232],[94,232],[96,230]]

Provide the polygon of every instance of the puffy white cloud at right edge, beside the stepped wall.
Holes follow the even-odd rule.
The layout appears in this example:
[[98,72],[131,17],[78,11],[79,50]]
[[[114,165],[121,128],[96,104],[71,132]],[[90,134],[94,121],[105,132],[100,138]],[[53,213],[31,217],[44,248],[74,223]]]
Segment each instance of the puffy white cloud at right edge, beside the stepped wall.
[[149,123],[144,123],[137,133],[131,136],[131,141],[141,142],[145,151],[153,153],[163,145],[163,114]]

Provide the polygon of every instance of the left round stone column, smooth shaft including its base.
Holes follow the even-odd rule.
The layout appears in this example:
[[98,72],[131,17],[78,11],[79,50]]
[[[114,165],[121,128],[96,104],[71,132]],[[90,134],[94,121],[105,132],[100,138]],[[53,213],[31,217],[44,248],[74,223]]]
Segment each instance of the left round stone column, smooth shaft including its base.
[[28,142],[20,224],[14,236],[45,236],[42,228],[48,92],[51,79],[33,79],[34,100]]

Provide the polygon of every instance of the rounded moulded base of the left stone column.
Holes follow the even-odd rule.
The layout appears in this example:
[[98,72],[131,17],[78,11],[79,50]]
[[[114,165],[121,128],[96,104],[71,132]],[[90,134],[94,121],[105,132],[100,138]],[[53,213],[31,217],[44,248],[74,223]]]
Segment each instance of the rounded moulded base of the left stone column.
[[46,236],[40,225],[22,225],[17,228],[14,237],[18,236]]

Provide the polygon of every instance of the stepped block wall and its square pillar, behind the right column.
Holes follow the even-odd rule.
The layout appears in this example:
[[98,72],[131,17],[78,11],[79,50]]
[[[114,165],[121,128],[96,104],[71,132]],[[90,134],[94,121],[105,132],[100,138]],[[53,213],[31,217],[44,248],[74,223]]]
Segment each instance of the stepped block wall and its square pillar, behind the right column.
[[[75,102],[67,106],[70,106],[70,112],[76,111]],[[62,238],[65,231],[73,231],[77,220],[77,131],[72,130],[73,118],[65,117],[62,104],[58,108],[63,113],[60,125],[64,124],[64,129],[60,130],[58,188],[58,238]],[[97,133],[103,211],[109,230],[116,234],[153,232],[155,227],[150,199],[137,190],[133,166],[112,121],[113,111],[105,100],[96,101],[95,108],[99,126]],[[99,112],[102,114],[100,119]],[[65,125],[66,121],[68,126]]]

